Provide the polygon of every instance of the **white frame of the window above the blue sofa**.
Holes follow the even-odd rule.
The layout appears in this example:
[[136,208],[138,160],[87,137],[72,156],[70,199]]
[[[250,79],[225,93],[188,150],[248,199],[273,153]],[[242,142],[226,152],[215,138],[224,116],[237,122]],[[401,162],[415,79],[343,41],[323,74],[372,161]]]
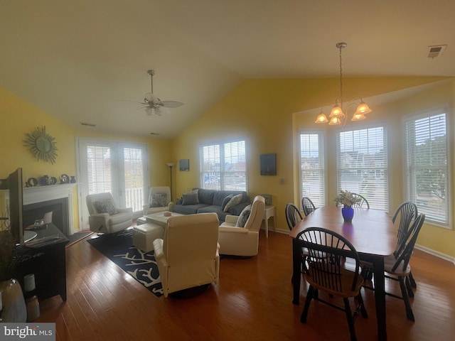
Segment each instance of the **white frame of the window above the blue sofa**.
[[[225,159],[227,156],[225,156],[225,150],[224,146],[226,144],[236,144],[236,143],[243,143],[245,146],[245,171],[234,171],[230,172],[225,168]],[[220,165],[218,169],[215,169],[213,171],[205,171],[204,170],[204,155],[203,155],[203,149],[205,147],[210,147],[210,146],[218,146],[219,147],[219,152],[220,152]],[[200,144],[199,146],[199,170],[200,170],[200,176],[199,176],[199,183],[200,183],[200,188],[208,188],[208,189],[218,189],[218,190],[245,190],[247,192],[248,190],[248,173],[247,173],[247,143],[245,139],[235,139],[235,140],[226,140],[226,141],[215,141],[215,142],[210,142],[210,143],[205,143],[205,144]],[[206,174],[206,173],[211,173],[211,174]],[[227,183],[225,181],[226,175],[228,173],[245,173],[245,187],[236,187],[232,186],[232,183]],[[208,177],[215,177],[215,182],[219,180],[219,186],[218,183],[215,183],[213,186],[207,186],[205,185],[205,175]],[[219,179],[217,179],[219,178]]]

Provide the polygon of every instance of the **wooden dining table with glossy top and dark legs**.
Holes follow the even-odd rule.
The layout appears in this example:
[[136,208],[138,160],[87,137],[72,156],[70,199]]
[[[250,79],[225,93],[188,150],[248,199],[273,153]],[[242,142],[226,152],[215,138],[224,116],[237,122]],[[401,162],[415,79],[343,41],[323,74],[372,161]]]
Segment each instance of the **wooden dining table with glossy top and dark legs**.
[[378,340],[387,340],[385,323],[385,274],[384,258],[395,251],[397,230],[392,218],[382,210],[354,208],[352,222],[345,222],[341,207],[336,205],[319,207],[311,212],[289,232],[292,237],[292,283],[294,297],[292,303],[299,304],[301,281],[301,241],[299,232],[308,227],[323,227],[341,234],[353,244],[361,261],[373,264],[375,283],[375,308],[378,325]]

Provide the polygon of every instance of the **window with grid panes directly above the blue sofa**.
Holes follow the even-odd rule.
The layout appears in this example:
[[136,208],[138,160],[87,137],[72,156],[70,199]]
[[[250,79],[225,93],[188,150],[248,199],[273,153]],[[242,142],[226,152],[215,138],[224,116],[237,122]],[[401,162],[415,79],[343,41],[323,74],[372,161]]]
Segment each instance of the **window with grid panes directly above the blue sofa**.
[[200,187],[247,190],[245,141],[200,146]]

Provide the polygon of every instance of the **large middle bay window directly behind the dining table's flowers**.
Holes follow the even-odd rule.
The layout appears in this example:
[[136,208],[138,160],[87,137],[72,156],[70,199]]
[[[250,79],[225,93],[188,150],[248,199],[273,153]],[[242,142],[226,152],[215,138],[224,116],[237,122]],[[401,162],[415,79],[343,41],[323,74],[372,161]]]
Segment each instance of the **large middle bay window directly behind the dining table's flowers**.
[[370,208],[388,211],[387,136],[382,126],[341,131],[337,139],[338,191],[363,195]]

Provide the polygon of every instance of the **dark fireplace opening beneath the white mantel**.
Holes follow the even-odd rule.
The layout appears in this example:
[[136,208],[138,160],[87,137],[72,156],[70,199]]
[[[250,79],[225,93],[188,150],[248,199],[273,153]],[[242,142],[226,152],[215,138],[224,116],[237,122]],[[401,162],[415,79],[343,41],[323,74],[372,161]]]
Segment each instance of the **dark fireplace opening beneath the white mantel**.
[[42,219],[47,212],[52,212],[52,222],[66,237],[70,236],[70,220],[68,217],[68,197],[36,202],[23,205],[23,226],[33,224]]

